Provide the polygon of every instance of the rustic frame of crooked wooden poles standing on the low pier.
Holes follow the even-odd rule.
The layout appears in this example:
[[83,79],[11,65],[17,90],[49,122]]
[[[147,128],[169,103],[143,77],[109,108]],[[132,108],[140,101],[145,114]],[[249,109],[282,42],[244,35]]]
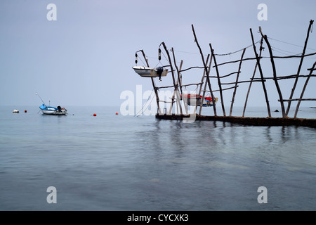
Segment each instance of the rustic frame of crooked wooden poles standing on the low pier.
[[[310,24],[308,27],[308,32],[307,32],[307,36],[305,39],[305,44],[303,47],[303,52],[300,55],[294,55],[294,56],[273,56],[273,51],[272,51],[272,47],[270,45],[269,39],[267,37],[267,35],[263,34],[263,31],[261,29],[261,27],[259,27],[259,32],[261,34],[261,41],[257,41],[255,43],[254,41],[254,36],[252,33],[252,30],[250,29],[250,34],[251,34],[251,41],[252,41],[252,45],[248,46],[248,47],[252,47],[254,50],[254,58],[244,58],[244,54],[246,52],[246,49],[248,48],[244,48],[241,49],[239,51],[235,51],[234,53],[237,52],[242,52],[240,59],[239,60],[232,60],[232,61],[228,61],[225,63],[217,63],[217,56],[224,56],[224,55],[230,55],[232,53],[228,53],[228,54],[216,54],[214,53],[213,47],[211,44],[209,44],[209,50],[210,53],[206,56],[204,55],[204,53],[202,52],[201,47],[199,46],[199,42],[197,40],[197,35],[195,33],[195,28],[192,25],[192,32],[195,38],[195,43],[197,44],[197,48],[199,49],[199,55],[201,56],[201,60],[202,60],[202,67],[192,67],[192,68],[187,68],[187,69],[182,69],[183,66],[183,60],[181,60],[180,66],[178,67],[177,63],[176,63],[176,56],[175,56],[175,51],[173,50],[173,48],[170,50],[172,53],[172,60],[171,60],[171,56],[169,54],[168,49],[166,48],[166,44],[164,42],[162,42],[159,45],[159,60],[161,59],[160,54],[162,53],[162,50],[160,49],[161,46],[164,48],[164,51],[166,52],[166,59],[169,62],[169,65],[164,65],[164,67],[169,67],[170,68],[170,73],[171,73],[171,77],[172,77],[172,82],[173,85],[171,86],[156,86],[156,84],[154,83],[154,78],[152,79],[152,86],[154,89],[154,93],[156,95],[156,101],[157,101],[157,115],[156,117],[158,119],[166,119],[166,120],[183,120],[183,118],[185,117],[190,117],[190,114],[188,114],[188,108],[187,108],[187,102],[185,102],[184,98],[182,98],[183,96],[183,87],[185,86],[190,86],[190,85],[197,85],[197,95],[198,96],[202,96],[202,101],[204,101],[204,98],[206,96],[206,93],[210,93],[211,97],[212,97],[212,101],[213,101],[213,116],[204,116],[201,115],[202,113],[202,106],[200,106],[199,108],[199,112],[197,113],[197,104],[195,104],[195,108],[194,108],[194,112],[196,114],[196,120],[223,120],[223,121],[229,121],[229,122],[239,122],[239,123],[244,123],[245,124],[257,124],[257,125],[291,125],[291,124],[295,124],[295,125],[308,125],[308,126],[312,126],[312,127],[316,127],[316,119],[298,119],[297,118],[297,114],[298,114],[298,110],[301,104],[301,101],[316,101],[316,98],[303,98],[303,94],[305,92],[306,86],[310,80],[310,77],[315,77],[316,75],[313,75],[312,72],[314,72],[316,70],[316,62],[312,65],[311,68],[308,69],[309,74],[308,75],[301,75],[301,68],[302,68],[302,63],[303,63],[303,59],[305,57],[308,56],[314,56],[316,55],[315,53],[309,53],[309,54],[305,54],[305,50],[307,48],[307,44],[308,44],[308,38],[309,38],[309,34],[310,31],[312,29],[312,23],[314,22],[314,20],[310,20]],[[270,63],[271,63],[271,67],[272,67],[272,77],[265,77],[263,75],[263,69],[261,66],[261,59],[263,58],[262,56],[262,51],[263,49],[263,41],[265,41],[266,46],[268,47],[268,52],[269,52],[269,56],[265,57],[265,58],[270,58]],[[256,49],[256,44],[258,44],[260,42],[260,48],[259,51]],[[143,57],[145,58],[145,61],[147,63],[147,67],[149,67],[147,58],[145,56],[145,53],[143,50],[140,50],[143,53]],[[204,58],[204,56],[206,56]],[[277,76],[277,70],[276,70],[276,66],[275,66],[275,59],[276,58],[280,58],[280,59],[287,59],[287,58],[301,58],[300,63],[298,65],[298,70],[296,72],[295,75],[287,75],[287,76]],[[256,62],[256,65],[254,67],[254,73],[251,77],[250,80],[239,80],[239,78],[241,77],[241,70],[242,70],[242,63],[246,60],[254,60]],[[213,63],[213,65],[212,65]],[[238,69],[235,72],[231,72],[228,75],[220,75],[220,72],[218,70],[218,68],[221,65],[225,65],[225,64],[229,64],[229,63],[239,63],[238,64]],[[183,84],[182,82],[182,72],[185,72],[187,70],[191,70],[191,69],[195,69],[195,68],[199,68],[202,69],[202,79],[201,82],[197,83],[197,84]],[[215,74],[214,76],[210,75],[211,72],[211,68],[215,68]],[[256,75],[256,71],[258,69],[258,72],[260,74],[259,78],[255,78]],[[223,82],[223,78],[224,77],[229,77],[232,75],[236,75],[235,78],[235,82],[230,82],[230,83],[225,83]],[[301,91],[301,94],[299,96],[299,98],[293,98],[294,96],[294,91],[296,89],[296,86],[298,84],[298,78],[301,77],[305,77],[305,84],[303,86],[303,89]],[[213,90],[212,89],[212,82],[211,79],[216,79],[217,85],[218,85],[218,90]],[[268,91],[266,89],[265,86],[265,82],[268,82],[269,80],[273,80],[274,84],[275,84],[275,89],[277,90],[277,94],[278,94],[278,101],[282,110],[282,117],[272,117],[271,116],[271,110],[270,110],[270,103],[269,103],[269,99],[268,99]],[[280,89],[279,86],[279,80],[281,79],[294,79],[294,85],[291,89],[291,94],[289,96],[289,98],[284,99],[282,91]],[[267,106],[267,111],[268,111],[268,117],[265,118],[258,118],[258,117],[244,117],[244,113],[246,111],[246,105],[247,105],[247,101],[249,98],[249,92],[251,90],[251,85],[253,84],[253,82],[261,82],[262,85],[262,89],[263,89],[263,94],[265,96],[265,103]],[[246,100],[244,102],[244,109],[243,109],[243,113],[242,113],[242,117],[234,117],[232,115],[232,109],[233,109],[233,105],[235,102],[235,96],[236,96],[236,92],[237,92],[237,88],[239,87],[239,84],[242,83],[249,83],[249,87],[248,87],[248,91],[246,94]],[[228,88],[223,88],[223,86],[225,85],[232,85]],[[158,91],[159,89],[165,89],[165,88],[172,88],[173,89],[173,96],[171,98],[171,103],[170,105],[170,109],[169,109],[169,113],[165,112],[162,113],[162,109],[159,106],[160,102],[164,102],[167,103],[166,101],[161,101],[159,99],[159,94]],[[229,115],[226,115],[225,112],[225,102],[223,99],[223,91],[228,90],[228,89],[233,89],[233,93],[232,93],[232,99],[231,99],[231,103],[230,103],[230,113]],[[223,115],[218,115],[217,110],[216,110],[216,102],[214,102],[214,92],[215,91],[219,91],[219,98],[220,98],[220,106],[221,106],[221,110],[223,112]],[[298,101],[297,105],[296,105],[296,110],[294,113],[294,117],[289,117],[289,110],[291,108],[291,103],[293,101]],[[183,105],[181,104],[181,102],[183,102]],[[284,105],[285,103],[287,103],[287,107],[286,105]],[[173,110],[173,105],[177,105],[178,108],[180,108],[180,114],[175,114],[172,113]],[[184,109],[183,109],[184,107]],[[191,106],[192,107],[192,106]],[[184,113],[185,111],[185,113]],[[300,122],[300,121],[304,121],[304,122]]]

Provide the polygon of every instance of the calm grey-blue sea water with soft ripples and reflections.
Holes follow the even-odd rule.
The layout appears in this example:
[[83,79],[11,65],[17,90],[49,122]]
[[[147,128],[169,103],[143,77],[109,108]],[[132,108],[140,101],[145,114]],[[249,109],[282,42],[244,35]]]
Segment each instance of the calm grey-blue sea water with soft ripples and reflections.
[[13,109],[0,108],[0,210],[316,210],[314,128]]

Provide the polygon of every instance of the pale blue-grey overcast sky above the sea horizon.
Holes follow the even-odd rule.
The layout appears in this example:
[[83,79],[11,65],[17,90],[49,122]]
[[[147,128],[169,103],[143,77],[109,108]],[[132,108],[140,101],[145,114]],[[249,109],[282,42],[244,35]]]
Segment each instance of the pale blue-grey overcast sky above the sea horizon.
[[[48,4],[57,7],[57,20],[47,19]],[[268,20],[258,20],[259,4],[268,7]],[[249,46],[249,28],[258,41],[261,38],[259,26],[271,38],[275,55],[301,53],[309,22],[315,19],[315,8],[315,0],[1,0],[0,105],[40,105],[36,92],[46,103],[51,101],[53,105],[59,103],[65,107],[121,105],[122,91],[136,93],[139,84],[143,85],[143,91],[152,90],[150,79],[140,77],[131,68],[135,65],[135,53],[140,49],[145,51],[152,67],[167,64],[164,56],[160,63],[157,58],[162,41],[168,49],[175,50],[178,63],[183,60],[183,68],[202,66],[192,24],[205,55],[210,53],[209,43],[215,53],[230,53]],[[315,33],[316,29],[310,33],[307,53],[316,51]],[[267,48],[264,54],[268,56]],[[220,63],[240,56],[241,52],[216,59]],[[254,57],[254,50],[248,48],[246,56]],[[315,58],[304,61],[301,74],[308,74],[306,69],[312,67]],[[277,60],[278,75],[294,75],[298,63],[297,59],[287,63]],[[143,65],[140,59],[138,65]],[[219,69],[221,75],[225,75],[237,68],[235,63]],[[265,59],[263,70],[265,75],[272,76],[270,60]],[[240,79],[249,79],[253,71],[254,61],[244,63]],[[215,70],[211,70],[211,75],[216,75]],[[201,77],[202,70],[183,73],[184,82],[198,83]],[[162,82],[156,79],[156,84],[171,85],[170,78],[169,73]],[[235,77],[227,79],[231,80]],[[216,89],[216,79],[212,82]],[[277,105],[275,85],[272,80],[269,82],[271,104]],[[282,84],[284,98],[289,98],[293,82]],[[312,78],[304,97],[315,98],[315,84]],[[244,103],[247,89],[248,84],[239,85],[237,104]],[[262,86],[254,84],[251,91],[249,101],[265,105]],[[301,88],[295,98],[300,91]],[[232,91],[225,92],[228,105],[231,96]]]

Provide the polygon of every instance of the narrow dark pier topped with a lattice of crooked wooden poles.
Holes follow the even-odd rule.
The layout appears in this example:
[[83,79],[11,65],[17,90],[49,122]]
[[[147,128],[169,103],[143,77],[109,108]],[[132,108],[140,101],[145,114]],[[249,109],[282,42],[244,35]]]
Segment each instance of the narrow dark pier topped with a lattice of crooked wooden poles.
[[[245,47],[244,49],[240,49],[239,51],[234,51],[230,53],[225,54],[217,54],[215,53],[213,46],[211,43],[209,44],[209,51],[207,55],[203,53],[201,46],[199,45],[199,41],[197,39],[197,34],[195,33],[195,27],[192,25],[192,32],[194,36],[195,44],[197,45],[197,48],[199,49],[199,55],[202,60],[202,66],[193,66],[190,68],[183,69],[183,60],[181,60],[180,65],[177,65],[177,60],[175,56],[175,51],[173,48],[167,49],[166,44],[162,42],[159,45],[158,49],[158,59],[159,62],[162,58],[163,51],[161,47],[164,49],[164,52],[166,53],[165,58],[168,62],[167,65],[163,65],[164,68],[169,68],[169,73],[171,74],[171,85],[167,86],[157,86],[154,77],[151,77],[152,80],[152,86],[153,91],[155,94],[155,98],[157,101],[157,115],[156,118],[158,120],[187,120],[187,118],[190,118],[190,115],[195,115],[195,120],[211,120],[211,121],[223,121],[223,122],[235,122],[239,124],[246,124],[246,125],[257,125],[257,126],[308,126],[308,127],[316,127],[316,119],[307,119],[307,118],[298,118],[298,111],[299,107],[302,101],[316,101],[316,98],[303,98],[303,95],[305,93],[306,86],[308,86],[308,82],[310,78],[316,77],[313,72],[316,70],[316,61],[312,65],[308,66],[306,68],[306,71],[308,72],[308,75],[302,75],[301,70],[303,68],[303,60],[305,58],[308,58],[310,56],[315,56],[316,52],[314,53],[306,53],[306,49],[308,49],[308,38],[310,33],[312,32],[312,23],[314,20],[310,20],[310,24],[308,26],[307,35],[305,38],[303,51],[301,53],[296,53],[295,55],[289,55],[289,56],[274,56],[275,53],[275,47],[271,46],[270,44],[270,38],[268,38],[267,35],[263,34],[263,30],[261,27],[259,27],[259,34],[261,36],[261,40],[255,41],[254,35],[252,30],[250,29],[250,35],[251,35],[251,41],[252,44],[250,46]],[[265,45],[264,45],[265,44]],[[258,46],[259,45],[259,46]],[[245,58],[245,52],[246,49],[253,49],[253,54],[255,57],[248,57]],[[268,49],[268,56],[263,56],[263,50]],[[170,53],[169,53],[170,51]],[[145,59],[145,66],[150,68],[150,64],[148,63],[147,57],[145,56],[145,52],[143,50],[136,52],[136,65],[138,62],[138,55],[137,53],[141,52],[143,55],[143,58]],[[289,51],[288,51],[289,52]],[[241,53],[239,60],[230,60],[226,61],[224,63],[218,63],[218,58],[222,56],[232,56],[236,53]],[[266,51],[267,53],[267,51]],[[270,70],[272,70],[272,75],[265,76],[264,75],[264,68],[261,65],[263,58],[268,58],[270,60]],[[299,60],[298,63],[298,69],[297,71],[292,75],[282,75],[279,76],[277,72],[277,65],[275,63],[275,59],[279,60],[287,60],[289,58],[297,58]],[[242,63],[244,61],[254,61],[254,72],[252,76],[246,77],[244,74],[242,74]],[[237,63],[237,70],[229,72],[228,74],[221,75],[220,74],[220,68],[225,65],[234,65]],[[213,64],[213,65],[212,65]],[[212,70],[213,69],[213,70]],[[200,82],[196,82],[193,84],[183,84],[183,73],[187,72],[188,70],[201,70],[202,78],[200,79]],[[211,75],[211,70],[213,72],[213,75]],[[256,73],[259,74],[259,77],[256,77]],[[195,74],[197,74],[195,72]],[[235,77],[232,77],[235,76]],[[230,77],[230,82],[224,82],[227,77]],[[241,80],[244,78],[244,80]],[[288,88],[291,88],[291,94],[289,95],[289,98],[284,98],[284,91],[282,92],[281,86],[279,82],[282,82],[283,80],[289,80],[294,79],[293,86],[287,86]],[[295,91],[298,88],[298,79],[304,79],[305,82],[303,82],[303,86],[301,87],[300,93],[295,97]],[[233,80],[233,82],[232,82]],[[270,100],[268,97],[268,90],[266,88],[268,82],[272,81],[272,85],[275,86],[275,90],[277,94],[274,94],[274,101],[279,102],[280,111],[282,114],[282,117],[272,117],[271,116],[271,110],[270,110]],[[265,105],[267,110],[267,117],[245,117],[246,107],[248,103],[248,99],[251,92],[251,85],[254,84],[254,82],[259,82],[261,84],[263,91],[263,96],[265,99]],[[237,89],[240,89],[240,86],[248,84],[248,91],[246,92],[245,101],[244,101],[244,107],[243,107],[243,113],[242,117],[236,117],[232,115],[233,106],[235,103],[235,97],[237,93]],[[229,86],[230,85],[230,86]],[[187,94],[185,94],[185,91],[183,89],[186,89],[188,86],[196,86],[197,89],[195,89],[195,94],[190,95],[190,99],[185,98]],[[215,88],[214,88],[215,86]],[[224,87],[225,86],[225,87]],[[228,87],[226,87],[228,86]],[[271,84],[270,84],[271,86]],[[159,90],[161,89],[172,89],[173,95],[171,97],[171,101],[165,101],[159,98]],[[232,91],[232,98],[230,100],[230,111],[229,113],[225,112],[225,101],[224,101],[224,91]],[[215,96],[214,92],[218,91]],[[256,89],[256,92],[260,91],[260,88]],[[207,96],[209,95],[209,96]],[[189,95],[187,95],[189,96]],[[192,98],[192,96],[195,96],[195,99]],[[198,96],[198,97],[196,97]],[[227,95],[225,96],[227,98]],[[271,98],[271,96],[270,96]],[[211,99],[211,101],[209,100]],[[216,102],[219,99],[220,103],[220,112],[223,113],[223,115],[218,115],[218,111],[216,110]],[[189,101],[188,101],[189,100]],[[296,102],[296,109],[294,112],[294,117],[289,117],[289,110],[291,109],[291,103]],[[169,104],[169,111],[167,111],[166,106],[161,106],[160,104]],[[207,103],[207,104],[206,104]],[[287,104],[287,105],[286,105]],[[190,106],[190,110],[189,110]],[[199,110],[197,110],[197,107],[199,106]],[[213,115],[202,115],[202,107],[204,106],[211,106],[209,107],[211,111],[213,111]],[[162,109],[164,112],[162,112]],[[176,113],[176,110],[178,113]],[[227,115],[228,114],[228,115]],[[315,115],[316,118],[316,115]]]

